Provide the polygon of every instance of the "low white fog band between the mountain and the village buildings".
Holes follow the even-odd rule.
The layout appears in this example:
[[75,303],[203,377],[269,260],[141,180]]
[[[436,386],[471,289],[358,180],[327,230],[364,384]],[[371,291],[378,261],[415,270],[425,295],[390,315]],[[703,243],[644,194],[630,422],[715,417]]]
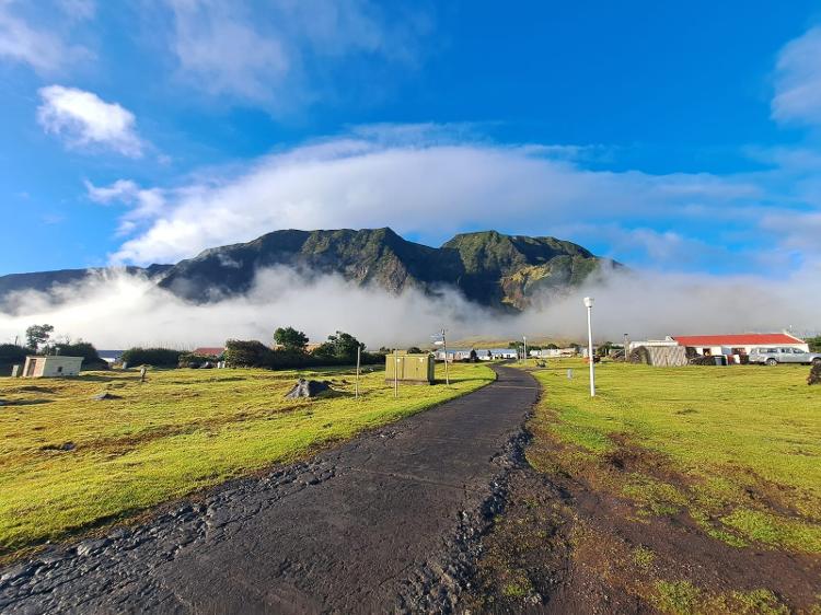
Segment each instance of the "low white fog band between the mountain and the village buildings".
[[418,291],[400,297],[357,288],[338,276],[307,281],[296,271],[261,271],[251,292],[207,305],[186,303],[141,277],[109,272],[51,297],[14,297],[0,312],[0,341],[13,340],[32,324],[49,323],[55,334],[82,338],[97,348],[136,345],[195,347],[226,339],[268,341],[278,326],[304,330],[312,341],[346,330],[369,348],[425,345],[442,326],[452,339],[554,337],[582,340],[581,298],[595,298],[599,340],[674,334],[819,328],[821,268],[782,280],[651,272],[610,272],[567,297],[541,300],[516,316],[500,316],[466,302],[454,291],[431,298]]

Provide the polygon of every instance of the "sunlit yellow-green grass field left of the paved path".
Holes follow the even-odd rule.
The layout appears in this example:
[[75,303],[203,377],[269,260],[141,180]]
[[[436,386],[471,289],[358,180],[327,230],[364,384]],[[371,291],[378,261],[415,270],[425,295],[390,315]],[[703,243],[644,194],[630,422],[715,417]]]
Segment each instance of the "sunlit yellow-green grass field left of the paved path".
[[[442,365],[437,365],[437,372]],[[299,375],[342,395],[286,401]],[[438,376],[443,374],[437,373]],[[351,370],[91,372],[66,380],[0,379],[0,555],[160,502],[405,417],[474,391],[487,365],[456,364],[451,385],[403,386]],[[92,401],[108,391],[116,398]]]

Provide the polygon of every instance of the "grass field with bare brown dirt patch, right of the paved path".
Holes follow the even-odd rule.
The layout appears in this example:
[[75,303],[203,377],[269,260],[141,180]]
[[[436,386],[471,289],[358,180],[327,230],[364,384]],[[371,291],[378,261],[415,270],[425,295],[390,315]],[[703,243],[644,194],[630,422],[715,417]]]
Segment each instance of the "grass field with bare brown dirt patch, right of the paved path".
[[[528,460],[571,499],[514,495],[487,579],[550,592],[544,570],[567,544],[588,582],[662,613],[821,614],[821,386],[807,385],[809,368],[606,362],[595,398],[580,360],[528,369],[543,384]],[[566,543],[533,538],[565,526]]]

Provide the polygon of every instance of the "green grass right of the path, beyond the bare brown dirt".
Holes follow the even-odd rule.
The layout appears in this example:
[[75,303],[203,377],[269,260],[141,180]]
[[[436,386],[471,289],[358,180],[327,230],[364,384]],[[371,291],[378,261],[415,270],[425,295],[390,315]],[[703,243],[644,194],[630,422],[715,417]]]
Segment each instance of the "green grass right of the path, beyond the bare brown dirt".
[[[550,361],[534,371],[545,394],[532,426],[536,444],[565,446],[529,459],[545,472],[594,466],[597,487],[646,514],[686,510],[732,546],[821,553],[821,386],[807,372],[604,363],[591,399],[581,361]],[[620,457],[626,469],[612,472]]]

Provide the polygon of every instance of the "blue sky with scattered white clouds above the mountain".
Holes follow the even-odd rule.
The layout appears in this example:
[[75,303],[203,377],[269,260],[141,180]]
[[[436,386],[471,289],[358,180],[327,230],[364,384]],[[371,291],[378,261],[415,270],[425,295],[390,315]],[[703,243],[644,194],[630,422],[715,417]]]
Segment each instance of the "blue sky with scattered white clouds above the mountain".
[[799,270],[821,12],[716,4],[0,0],[0,274],[383,225]]

